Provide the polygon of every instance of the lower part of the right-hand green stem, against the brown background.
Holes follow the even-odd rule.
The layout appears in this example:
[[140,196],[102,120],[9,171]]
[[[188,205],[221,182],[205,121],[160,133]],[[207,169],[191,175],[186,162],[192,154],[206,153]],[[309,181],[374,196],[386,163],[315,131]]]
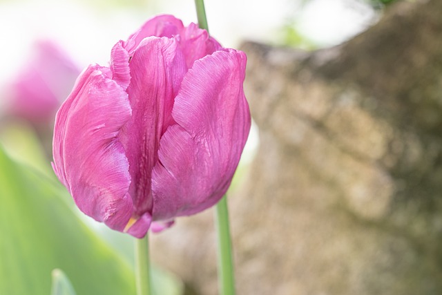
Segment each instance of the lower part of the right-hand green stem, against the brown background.
[[224,196],[216,205],[215,225],[218,231],[218,281],[221,295],[235,294],[229,211],[227,197]]

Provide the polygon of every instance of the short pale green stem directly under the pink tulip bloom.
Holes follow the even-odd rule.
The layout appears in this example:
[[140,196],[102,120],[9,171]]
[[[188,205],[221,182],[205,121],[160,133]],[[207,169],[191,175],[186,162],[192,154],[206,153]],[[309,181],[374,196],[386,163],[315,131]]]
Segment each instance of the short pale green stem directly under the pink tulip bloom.
[[135,280],[137,295],[151,295],[151,265],[148,234],[135,241]]

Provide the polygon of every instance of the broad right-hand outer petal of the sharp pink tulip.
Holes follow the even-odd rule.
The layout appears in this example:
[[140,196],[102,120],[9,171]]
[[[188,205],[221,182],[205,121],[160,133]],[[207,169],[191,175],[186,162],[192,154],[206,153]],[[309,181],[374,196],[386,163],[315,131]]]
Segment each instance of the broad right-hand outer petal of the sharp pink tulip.
[[195,61],[175,98],[152,175],[153,220],[190,215],[227,191],[250,129],[246,57],[217,51]]

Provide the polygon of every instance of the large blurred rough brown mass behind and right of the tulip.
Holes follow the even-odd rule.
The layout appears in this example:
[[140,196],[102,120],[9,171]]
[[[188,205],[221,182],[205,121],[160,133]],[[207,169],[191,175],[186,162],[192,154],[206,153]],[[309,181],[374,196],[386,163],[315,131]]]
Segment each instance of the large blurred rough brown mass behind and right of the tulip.
[[[336,48],[242,49],[260,148],[229,199],[238,294],[442,294],[442,1]],[[211,213],[153,238],[207,295]]]

